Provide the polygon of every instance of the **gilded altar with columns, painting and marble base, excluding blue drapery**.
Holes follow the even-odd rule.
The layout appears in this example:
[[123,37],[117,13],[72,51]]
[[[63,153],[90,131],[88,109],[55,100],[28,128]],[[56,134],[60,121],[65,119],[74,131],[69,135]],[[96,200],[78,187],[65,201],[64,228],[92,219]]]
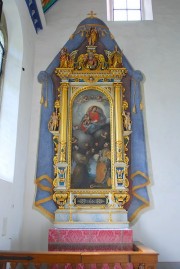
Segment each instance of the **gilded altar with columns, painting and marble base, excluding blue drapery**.
[[78,50],[68,54],[64,48],[55,70],[61,83],[49,130],[55,141],[57,227],[65,223],[128,227],[124,205],[130,198],[131,120],[127,122],[128,102],[121,82],[127,70],[117,48],[106,54],[108,62],[96,46],[88,44],[76,60]]

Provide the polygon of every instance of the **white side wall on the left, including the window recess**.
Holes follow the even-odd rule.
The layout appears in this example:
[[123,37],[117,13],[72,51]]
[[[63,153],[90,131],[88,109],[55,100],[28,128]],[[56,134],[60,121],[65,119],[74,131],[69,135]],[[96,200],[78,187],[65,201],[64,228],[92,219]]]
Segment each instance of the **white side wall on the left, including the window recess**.
[[[0,180],[0,249],[18,249],[23,222],[35,32],[25,1],[17,1],[16,5],[14,1],[6,0],[3,10],[9,46],[1,119],[6,112],[5,123],[10,123],[10,131],[7,129],[5,135],[10,149],[8,157],[12,156],[8,163],[12,182]],[[4,125],[1,127],[4,131]],[[1,156],[0,161],[5,157]]]

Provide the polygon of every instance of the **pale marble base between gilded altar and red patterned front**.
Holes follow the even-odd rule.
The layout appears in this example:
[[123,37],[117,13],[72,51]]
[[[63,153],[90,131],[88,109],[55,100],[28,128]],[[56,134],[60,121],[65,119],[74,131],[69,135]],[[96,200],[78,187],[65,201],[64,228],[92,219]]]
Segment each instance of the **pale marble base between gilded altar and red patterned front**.
[[127,211],[119,208],[64,208],[55,212],[55,228],[128,229]]

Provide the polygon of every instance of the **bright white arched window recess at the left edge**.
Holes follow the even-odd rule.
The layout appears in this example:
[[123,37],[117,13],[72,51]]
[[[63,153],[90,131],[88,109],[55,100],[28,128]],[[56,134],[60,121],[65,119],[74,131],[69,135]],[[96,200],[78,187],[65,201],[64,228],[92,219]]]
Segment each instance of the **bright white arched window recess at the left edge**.
[[[18,111],[23,59],[22,27],[16,1],[3,2],[0,30],[4,56],[0,77],[0,180],[13,182],[15,175]],[[3,43],[3,42],[2,42]]]

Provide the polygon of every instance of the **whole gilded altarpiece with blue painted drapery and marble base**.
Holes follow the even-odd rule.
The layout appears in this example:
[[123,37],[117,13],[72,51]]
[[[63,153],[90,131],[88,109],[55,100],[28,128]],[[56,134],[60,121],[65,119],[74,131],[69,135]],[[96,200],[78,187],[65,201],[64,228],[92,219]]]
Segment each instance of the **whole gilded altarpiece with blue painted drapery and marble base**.
[[141,72],[90,13],[38,79],[35,206],[56,227],[128,228],[149,204]]

